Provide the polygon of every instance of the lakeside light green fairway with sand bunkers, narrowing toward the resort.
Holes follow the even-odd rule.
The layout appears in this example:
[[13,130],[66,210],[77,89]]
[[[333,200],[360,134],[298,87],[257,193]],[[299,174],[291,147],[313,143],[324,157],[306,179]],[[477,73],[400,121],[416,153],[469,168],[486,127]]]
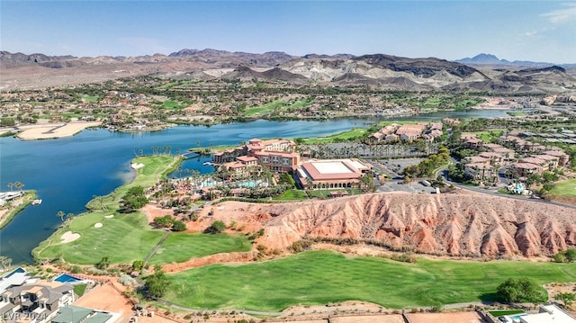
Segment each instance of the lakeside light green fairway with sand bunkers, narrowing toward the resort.
[[[130,187],[141,185],[148,188],[157,179],[170,174],[180,161],[173,156],[136,157],[133,163],[144,164],[130,184],[123,185],[113,193],[88,203],[90,212],[81,214],[70,221],[66,228],[60,228],[46,241],[32,251],[37,259],[55,259],[60,256],[68,263],[90,265],[108,256],[112,263],[130,263],[144,259],[164,235],[164,231],[150,229],[146,217],[139,211],[121,213],[121,197]],[[105,210],[104,210],[105,207]],[[104,216],[113,214],[112,219]],[[94,228],[100,222],[102,228]],[[62,234],[67,230],[80,234],[80,238],[67,244],[61,243]]]

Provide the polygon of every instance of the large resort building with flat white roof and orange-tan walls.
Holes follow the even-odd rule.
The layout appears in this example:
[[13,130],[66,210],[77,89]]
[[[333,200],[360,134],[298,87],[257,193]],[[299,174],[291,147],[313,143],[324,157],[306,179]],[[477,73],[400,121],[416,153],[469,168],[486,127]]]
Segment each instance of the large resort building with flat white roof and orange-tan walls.
[[356,158],[311,159],[298,166],[296,177],[307,189],[352,188],[360,186],[362,175],[369,173],[372,166]]

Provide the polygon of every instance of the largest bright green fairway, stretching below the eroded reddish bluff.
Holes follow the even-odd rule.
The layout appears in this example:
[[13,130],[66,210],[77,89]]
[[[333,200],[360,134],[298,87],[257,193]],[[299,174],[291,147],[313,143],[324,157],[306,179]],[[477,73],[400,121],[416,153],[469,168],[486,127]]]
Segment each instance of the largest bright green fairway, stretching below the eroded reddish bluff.
[[427,260],[309,251],[249,265],[208,265],[177,274],[164,299],[197,309],[284,310],[295,304],[372,301],[401,309],[494,300],[509,277],[538,284],[576,279],[576,264]]

